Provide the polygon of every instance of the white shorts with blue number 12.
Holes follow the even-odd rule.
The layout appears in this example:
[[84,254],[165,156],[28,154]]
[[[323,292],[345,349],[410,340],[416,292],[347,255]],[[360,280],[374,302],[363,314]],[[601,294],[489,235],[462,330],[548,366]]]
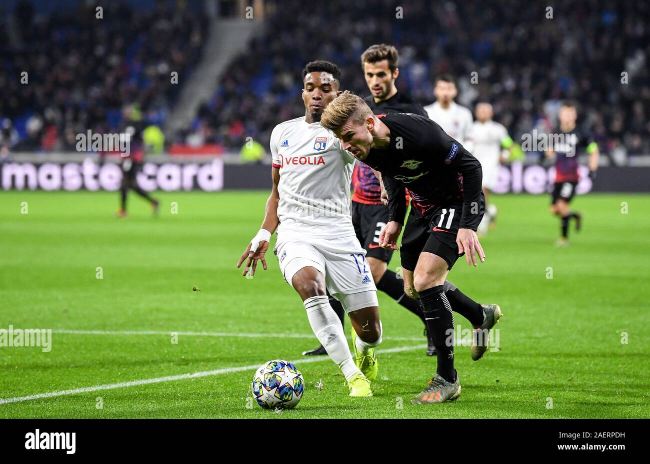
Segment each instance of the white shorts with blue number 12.
[[356,236],[342,238],[279,238],[273,252],[284,279],[293,287],[293,276],[303,267],[315,267],[325,276],[330,295],[346,312],[378,306],[365,250]]

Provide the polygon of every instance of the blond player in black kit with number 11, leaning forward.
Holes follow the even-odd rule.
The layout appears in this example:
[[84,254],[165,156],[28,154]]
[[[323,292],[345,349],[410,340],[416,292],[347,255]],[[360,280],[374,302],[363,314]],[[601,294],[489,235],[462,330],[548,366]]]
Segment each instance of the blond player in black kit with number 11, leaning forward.
[[402,268],[413,272],[413,286],[437,355],[434,378],[411,402],[456,400],[461,389],[454,369],[452,308],[474,327],[474,361],[486,352],[487,333],[502,316],[497,305],[480,305],[465,295],[464,304],[452,306],[445,288],[459,256],[465,254],[467,264],[473,266],[485,260],[476,237],[485,210],[481,165],[432,120],[406,114],[375,116],[350,92],[328,105],[320,124],[333,131],[352,156],[380,172],[389,208],[389,223],[380,236],[382,247],[397,249],[408,188],[411,213],[402,238]]

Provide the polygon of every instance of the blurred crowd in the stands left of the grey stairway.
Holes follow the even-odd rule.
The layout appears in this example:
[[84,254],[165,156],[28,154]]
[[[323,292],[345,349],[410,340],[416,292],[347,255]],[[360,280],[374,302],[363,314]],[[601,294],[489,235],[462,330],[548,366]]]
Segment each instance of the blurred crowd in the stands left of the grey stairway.
[[75,151],[87,130],[161,126],[180,90],[172,72],[187,79],[209,24],[183,2],[102,5],[101,18],[86,2],[0,12],[0,150]]

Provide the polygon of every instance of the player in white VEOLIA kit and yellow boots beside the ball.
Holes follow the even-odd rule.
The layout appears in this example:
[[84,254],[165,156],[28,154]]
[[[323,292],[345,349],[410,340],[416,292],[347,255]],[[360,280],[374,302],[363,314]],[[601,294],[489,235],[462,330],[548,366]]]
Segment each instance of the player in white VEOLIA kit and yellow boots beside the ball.
[[[302,77],[305,115],[281,122],[271,133],[273,188],[261,229],[237,267],[248,258],[243,275],[249,269],[254,275],[258,260],[266,269],[265,252],[277,229],[273,251],[284,279],[302,298],[311,329],[343,371],[350,396],[372,396],[382,323],[365,250],[350,217],[354,157],[320,126],[325,107],[341,94],[341,72],[331,62],[313,61]],[[350,316],[354,359],[326,290]]]

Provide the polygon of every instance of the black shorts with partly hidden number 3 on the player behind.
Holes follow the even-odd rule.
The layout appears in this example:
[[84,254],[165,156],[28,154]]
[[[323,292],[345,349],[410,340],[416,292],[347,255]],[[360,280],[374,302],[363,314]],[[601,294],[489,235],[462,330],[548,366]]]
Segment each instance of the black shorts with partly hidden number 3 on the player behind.
[[363,204],[356,201],[350,204],[352,225],[366,256],[390,262],[393,250],[379,246],[379,234],[388,223],[388,206],[383,204]]

